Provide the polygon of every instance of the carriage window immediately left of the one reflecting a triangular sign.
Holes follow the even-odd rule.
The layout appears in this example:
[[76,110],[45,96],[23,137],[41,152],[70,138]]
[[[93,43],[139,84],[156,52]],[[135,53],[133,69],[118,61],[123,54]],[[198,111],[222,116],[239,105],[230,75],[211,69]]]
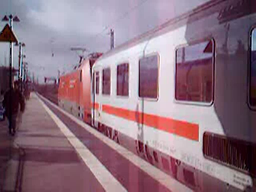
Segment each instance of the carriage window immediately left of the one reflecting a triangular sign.
[[158,55],[139,61],[139,97],[158,98]]

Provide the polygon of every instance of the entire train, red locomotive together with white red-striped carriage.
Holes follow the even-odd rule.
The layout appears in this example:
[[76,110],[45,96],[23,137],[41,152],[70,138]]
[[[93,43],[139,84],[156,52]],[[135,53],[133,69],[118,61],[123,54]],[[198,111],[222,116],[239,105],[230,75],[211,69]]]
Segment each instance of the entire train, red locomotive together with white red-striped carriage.
[[85,59],[58,100],[195,191],[256,190],[256,1],[207,1]]

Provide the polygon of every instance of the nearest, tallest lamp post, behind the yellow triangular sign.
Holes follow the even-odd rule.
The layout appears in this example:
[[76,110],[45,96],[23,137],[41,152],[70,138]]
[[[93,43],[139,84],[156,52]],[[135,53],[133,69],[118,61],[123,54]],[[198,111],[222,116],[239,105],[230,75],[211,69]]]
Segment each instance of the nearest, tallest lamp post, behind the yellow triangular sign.
[[[13,30],[13,22],[19,22],[19,18],[17,16],[13,17],[13,15],[9,15],[9,18],[7,17],[7,15],[4,16],[4,18],[2,19],[2,21],[5,22],[10,22],[10,28],[11,30]],[[12,68],[13,68],[13,43],[10,42],[10,78],[9,78],[9,86],[10,86],[10,105],[9,105],[9,111],[11,111],[12,109]],[[9,114],[9,133],[10,134],[14,134],[12,133],[12,113],[10,112]],[[14,130],[15,131],[15,130]]]

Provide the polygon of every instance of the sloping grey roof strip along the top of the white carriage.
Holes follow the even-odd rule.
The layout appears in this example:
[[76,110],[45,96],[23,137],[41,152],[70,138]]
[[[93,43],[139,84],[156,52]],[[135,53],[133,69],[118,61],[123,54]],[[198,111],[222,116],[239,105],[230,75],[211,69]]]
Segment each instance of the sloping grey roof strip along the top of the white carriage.
[[[255,2],[253,4],[256,6]],[[177,17],[169,19],[167,22],[163,23],[162,25],[157,26],[156,28],[149,30],[129,41],[126,41],[112,50],[107,51],[98,60],[112,56],[117,52],[133,47],[136,44],[150,40],[161,34],[165,34],[170,30],[174,30],[182,25],[194,22],[196,20],[199,20],[199,18],[209,16],[216,12],[219,12],[218,20],[220,23],[224,23],[229,20],[236,19],[238,18],[237,15],[240,14],[238,12],[239,11],[242,12],[244,9],[248,9],[249,6],[252,6],[252,5],[249,5],[246,1],[241,1],[241,0],[240,1],[226,1],[226,0],[208,1],[184,14],[181,14]],[[239,10],[239,8],[241,10]],[[249,13],[240,14],[239,17],[244,16],[246,14],[249,14]]]

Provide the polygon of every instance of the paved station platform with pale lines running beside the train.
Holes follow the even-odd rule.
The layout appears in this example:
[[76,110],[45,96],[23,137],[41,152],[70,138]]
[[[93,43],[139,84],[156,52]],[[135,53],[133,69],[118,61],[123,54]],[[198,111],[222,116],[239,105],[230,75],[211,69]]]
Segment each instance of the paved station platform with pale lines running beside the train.
[[190,190],[36,93],[14,138],[3,130],[3,191]]

